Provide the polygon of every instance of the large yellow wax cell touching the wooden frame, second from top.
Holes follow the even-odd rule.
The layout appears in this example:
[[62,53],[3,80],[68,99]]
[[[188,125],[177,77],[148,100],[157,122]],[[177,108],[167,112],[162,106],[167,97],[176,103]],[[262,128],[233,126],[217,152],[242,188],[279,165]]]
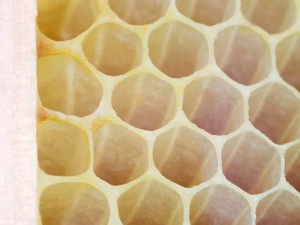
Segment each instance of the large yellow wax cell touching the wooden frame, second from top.
[[67,115],[89,115],[99,106],[102,86],[89,69],[71,55],[37,59],[37,89],[43,106]]

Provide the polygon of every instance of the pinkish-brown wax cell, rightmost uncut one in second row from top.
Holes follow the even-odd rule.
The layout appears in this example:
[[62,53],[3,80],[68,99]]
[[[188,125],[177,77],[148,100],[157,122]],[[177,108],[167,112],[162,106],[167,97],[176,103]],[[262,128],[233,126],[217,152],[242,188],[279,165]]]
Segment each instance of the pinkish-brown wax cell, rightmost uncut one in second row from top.
[[244,85],[264,79],[271,70],[266,42],[244,26],[230,26],[220,31],[214,41],[214,56],[227,76]]

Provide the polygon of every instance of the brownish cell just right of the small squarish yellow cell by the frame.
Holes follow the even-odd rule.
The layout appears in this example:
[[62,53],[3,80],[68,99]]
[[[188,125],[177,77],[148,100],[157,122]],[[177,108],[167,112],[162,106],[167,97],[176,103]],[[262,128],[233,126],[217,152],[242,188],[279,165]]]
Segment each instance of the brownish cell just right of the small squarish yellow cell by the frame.
[[145,140],[117,124],[106,124],[93,132],[93,170],[112,185],[127,183],[148,167]]

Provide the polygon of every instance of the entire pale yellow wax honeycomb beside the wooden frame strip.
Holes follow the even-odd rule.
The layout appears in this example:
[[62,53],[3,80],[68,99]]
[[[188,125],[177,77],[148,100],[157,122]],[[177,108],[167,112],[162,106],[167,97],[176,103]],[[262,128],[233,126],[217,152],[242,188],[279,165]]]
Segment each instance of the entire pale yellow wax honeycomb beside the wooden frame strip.
[[299,0],[37,0],[39,225],[300,224]]

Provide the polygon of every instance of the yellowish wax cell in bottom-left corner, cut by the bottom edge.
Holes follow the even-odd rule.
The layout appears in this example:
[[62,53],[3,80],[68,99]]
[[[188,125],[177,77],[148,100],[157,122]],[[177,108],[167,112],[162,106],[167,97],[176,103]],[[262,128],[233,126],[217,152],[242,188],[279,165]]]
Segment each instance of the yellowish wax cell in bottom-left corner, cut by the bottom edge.
[[106,225],[109,205],[105,195],[83,182],[62,182],[41,193],[39,212],[43,225]]

